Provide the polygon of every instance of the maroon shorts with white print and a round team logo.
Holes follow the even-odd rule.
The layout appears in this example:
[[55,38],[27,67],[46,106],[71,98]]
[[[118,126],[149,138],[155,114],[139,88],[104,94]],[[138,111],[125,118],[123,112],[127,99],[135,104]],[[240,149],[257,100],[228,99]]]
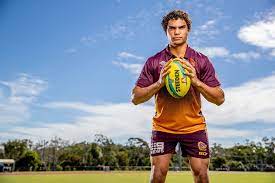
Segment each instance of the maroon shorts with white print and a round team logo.
[[178,143],[184,157],[209,158],[209,143],[206,130],[188,134],[152,131],[150,154],[151,156],[175,154]]

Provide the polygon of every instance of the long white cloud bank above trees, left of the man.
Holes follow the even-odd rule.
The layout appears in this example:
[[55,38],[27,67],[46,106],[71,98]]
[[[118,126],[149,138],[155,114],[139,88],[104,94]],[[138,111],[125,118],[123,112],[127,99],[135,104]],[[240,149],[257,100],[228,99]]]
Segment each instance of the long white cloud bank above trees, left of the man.
[[53,109],[83,110],[89,114],[70,122],[44,123],[45,125],[37,128],[15,127],[9,133],[0,132],[0,135],[5,133],[6,138],[25,137],[33,140],[58,136],[72,141],[81,141],[91,139],[96,133],[102,133],[111,138],[138,136],[148,140],[151,118],[154,114],[154,108],[151,105],[134,106],[130,103],[87,105],[54,102],[46,106]]

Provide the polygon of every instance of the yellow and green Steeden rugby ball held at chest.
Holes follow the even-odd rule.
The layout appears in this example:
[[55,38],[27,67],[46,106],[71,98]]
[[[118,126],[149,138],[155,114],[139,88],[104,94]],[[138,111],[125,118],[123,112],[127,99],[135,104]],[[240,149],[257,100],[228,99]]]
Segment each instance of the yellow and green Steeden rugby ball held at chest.
[[171,68],[165,78],[166,88],[174,98],[182,98],[190,89],[191,80],[185,75],[186,69],[182,67],[178,59],[174,59],[169,65]]

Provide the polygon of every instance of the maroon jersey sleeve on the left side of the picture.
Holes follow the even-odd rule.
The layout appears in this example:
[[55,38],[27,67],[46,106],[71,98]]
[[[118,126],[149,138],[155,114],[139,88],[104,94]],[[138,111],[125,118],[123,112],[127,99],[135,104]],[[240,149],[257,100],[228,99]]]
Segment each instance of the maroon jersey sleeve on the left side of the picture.
[[139,86],[141,88],[150,86],[154,83],[154,77],[153,77],[153,63],[152,60],[149,58],[143,68],[142,71],[138,77],[138,80],[136,81],[136,86]]

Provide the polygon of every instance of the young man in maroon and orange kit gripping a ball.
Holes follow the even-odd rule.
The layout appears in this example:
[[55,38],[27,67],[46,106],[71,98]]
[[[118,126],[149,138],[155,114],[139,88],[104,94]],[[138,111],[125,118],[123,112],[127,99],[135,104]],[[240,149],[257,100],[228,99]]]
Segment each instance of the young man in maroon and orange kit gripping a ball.
[[[162,26],[169,45],[146,61],[132,91],[135,105],[155,96],[150,181],[165,182],[170,159],[179,143],[183,156],[189,159],[194,182],[209,182],[209,144],[200,95],[211,103],[221,105],[224,93],[209,59],[187,44],[191,29],[188,14],[181,10],[171,11],[163,17]],[[164,87],[164,78],[169,73],[169,63],[173,58],[181,59],[191,79],[190,90],[180,99],[173,98]]]

